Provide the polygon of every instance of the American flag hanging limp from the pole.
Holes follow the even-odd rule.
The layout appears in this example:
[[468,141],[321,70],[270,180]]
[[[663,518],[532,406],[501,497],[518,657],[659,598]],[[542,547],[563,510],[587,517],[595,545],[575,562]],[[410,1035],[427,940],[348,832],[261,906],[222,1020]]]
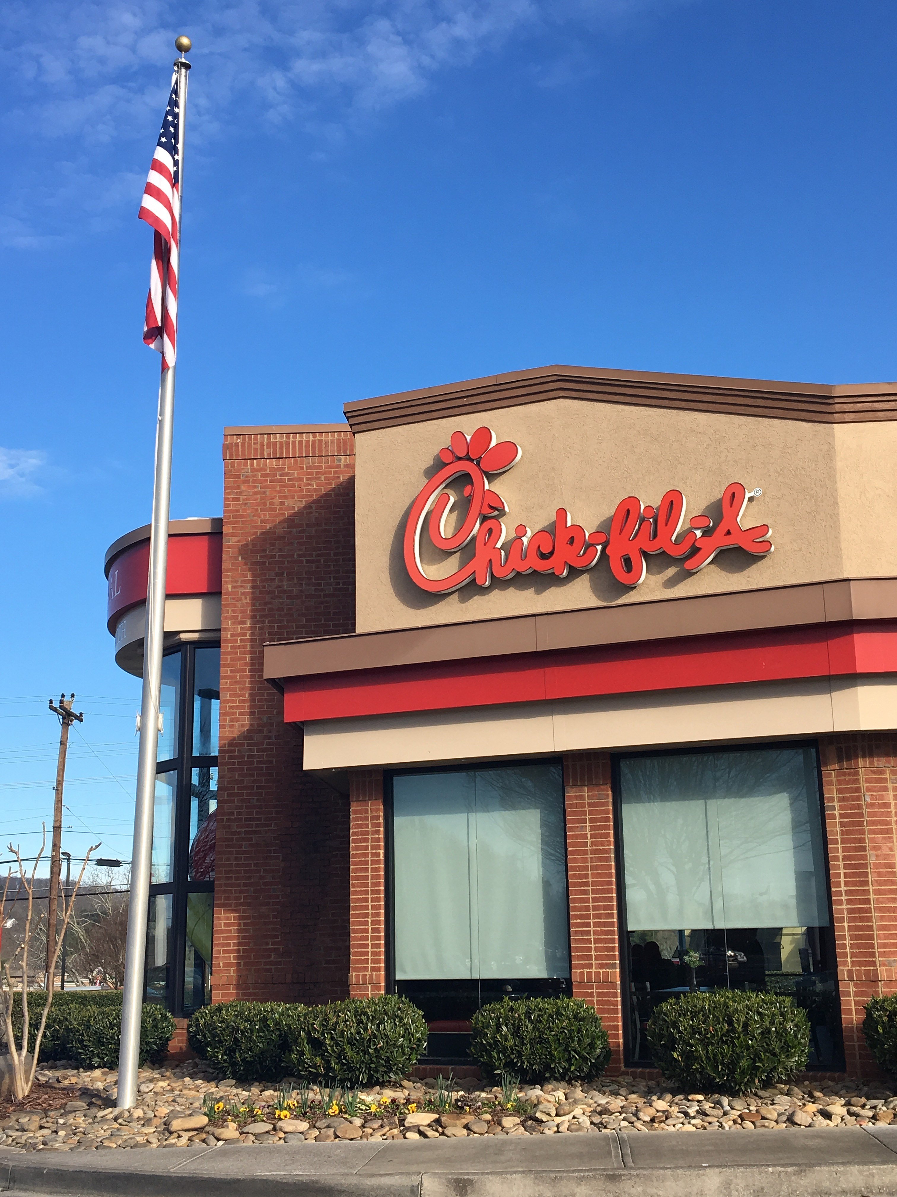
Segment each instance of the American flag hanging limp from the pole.
[[177,346],[178,217],[181,212],[181,164],[178,144],[181,110],[177,71],[171,83],[169,107],[161,121],[150,175],[140,201],[140,220],[155,230],[150,294],[146,297],[144,342],[161,353],[161,369],[173,366]]

